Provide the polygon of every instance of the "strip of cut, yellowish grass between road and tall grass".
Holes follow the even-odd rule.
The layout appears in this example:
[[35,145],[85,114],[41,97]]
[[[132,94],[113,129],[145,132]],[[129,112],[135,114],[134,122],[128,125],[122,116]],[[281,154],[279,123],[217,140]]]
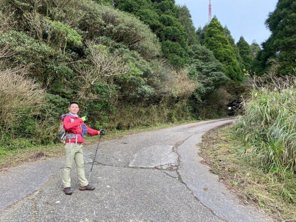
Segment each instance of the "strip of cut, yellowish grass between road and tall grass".
[[274,192],[275,175],[263,173],[260,163],[238,155],[236,148],[243,145],[231,137],[231,127],[217,128],[203,136],[200,154],[204,163],[244,204],[255,205],[276,221],[295,222],[296,204]]

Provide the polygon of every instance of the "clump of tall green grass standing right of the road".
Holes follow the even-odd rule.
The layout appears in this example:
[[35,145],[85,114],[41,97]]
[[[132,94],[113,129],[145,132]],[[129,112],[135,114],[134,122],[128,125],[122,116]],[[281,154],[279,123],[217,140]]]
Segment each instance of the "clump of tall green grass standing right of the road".
[[279,176],[269,188],[296,202],[296,77],[269,75],[253,79],[253,86],[235,126],[246,144],[239,153]]

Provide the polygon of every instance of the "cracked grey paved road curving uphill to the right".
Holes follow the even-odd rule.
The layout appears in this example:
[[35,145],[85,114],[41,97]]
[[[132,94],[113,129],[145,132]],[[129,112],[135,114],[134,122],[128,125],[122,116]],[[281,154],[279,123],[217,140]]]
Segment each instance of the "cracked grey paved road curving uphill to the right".
[[[263,222],[202,165],[202,135],[233,119],[144,132],[100,144],[90,184],[62,186],[63,158],[0,173],[0,222]],[[84,148],[88,178],[96,145]]]

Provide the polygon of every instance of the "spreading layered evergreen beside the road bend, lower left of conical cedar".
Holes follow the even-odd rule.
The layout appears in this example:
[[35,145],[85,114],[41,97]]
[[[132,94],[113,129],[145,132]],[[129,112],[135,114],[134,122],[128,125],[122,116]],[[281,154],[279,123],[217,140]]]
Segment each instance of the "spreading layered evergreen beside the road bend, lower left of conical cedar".
[[220,113],[229,102],[229,94],[223,88],[230,79],[223,73],[223,64],[204,45],[192,45],[188,53],[189,77],[195,80],[198,86],[190,101],[193,113],[204,117]]

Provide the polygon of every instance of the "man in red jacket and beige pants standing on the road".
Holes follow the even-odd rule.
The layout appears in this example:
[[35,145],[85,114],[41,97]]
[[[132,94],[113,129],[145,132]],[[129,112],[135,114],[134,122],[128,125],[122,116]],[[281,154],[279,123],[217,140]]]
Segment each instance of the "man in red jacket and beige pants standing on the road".
[[84,161],[82,143],[84,142],[84,134],[98,135],[101,131],[91,129],[85,125],[83,118],[79,118],[77,112],[79,111],[78,103],[72,102],[69,105],[69,113],[62,115],[64,128],[66,134],[66,162],[63,168],[63,184],[64,192],[68,195],[72,194],[70,172],[75,161],[77,168],[77,176],[80,182],[80,190],[93,190],[95,187],[88,184],[84,175]]

